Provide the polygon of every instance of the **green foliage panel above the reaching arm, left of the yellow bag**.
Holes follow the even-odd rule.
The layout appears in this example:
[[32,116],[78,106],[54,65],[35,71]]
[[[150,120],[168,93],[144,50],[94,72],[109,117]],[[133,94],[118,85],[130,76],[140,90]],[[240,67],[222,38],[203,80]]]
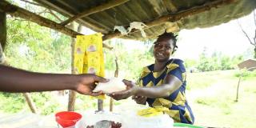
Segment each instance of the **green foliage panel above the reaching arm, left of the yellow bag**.
[[71,41],[66,35],[8,18],[7,42],[5,53],[11,66],[39,72],[70,69]]

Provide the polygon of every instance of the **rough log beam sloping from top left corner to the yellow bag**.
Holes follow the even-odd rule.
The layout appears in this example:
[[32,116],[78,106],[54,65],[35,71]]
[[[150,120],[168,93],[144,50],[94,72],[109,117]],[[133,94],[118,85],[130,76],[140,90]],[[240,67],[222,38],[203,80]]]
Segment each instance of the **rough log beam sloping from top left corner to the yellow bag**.
[[[67,28],[66,26],[61,26],[57,22],[53,22],[50,19],[43,18],[38,14],[34,14],[18,6],[14,6],[6,1],[0,1],[0,11],[6,12],[7,14],[10,14],[14,17],[24,18],[26,20],[29,20],[30,22],[35,22],[39,26],[45,26],[50,29],[57,30],[62,34],[71,36],[72,38],[76,38],[77,35],[82,35],[74,30]],[[106,45],[105,43],[103,43],[103,47],[112,49],[112,47]]]

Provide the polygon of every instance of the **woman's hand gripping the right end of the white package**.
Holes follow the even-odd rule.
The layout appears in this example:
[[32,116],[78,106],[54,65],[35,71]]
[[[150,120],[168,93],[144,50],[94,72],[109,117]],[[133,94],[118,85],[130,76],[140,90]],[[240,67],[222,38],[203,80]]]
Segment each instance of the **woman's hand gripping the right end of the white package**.
[[134,82],[128,81],[128,80],[122,80],[126,84],[126,90],[114,92],[112,94],[108,94],[110,97],[114,98],[115,100],[121,100],[121,99],[126,99],[129,98],[130,96],[134,95],[138,87],[135,86]]

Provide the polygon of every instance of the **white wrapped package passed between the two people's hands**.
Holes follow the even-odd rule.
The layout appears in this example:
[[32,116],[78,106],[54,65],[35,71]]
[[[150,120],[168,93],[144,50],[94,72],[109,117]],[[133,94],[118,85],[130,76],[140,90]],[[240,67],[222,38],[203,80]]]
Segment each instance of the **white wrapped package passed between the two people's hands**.
[[105,94],[111,94],[113,92],[126,90],[126,85],[122,82],[120,78],[110,78],[109,82],[99,82],[95,87],[93,92],[102,91]]

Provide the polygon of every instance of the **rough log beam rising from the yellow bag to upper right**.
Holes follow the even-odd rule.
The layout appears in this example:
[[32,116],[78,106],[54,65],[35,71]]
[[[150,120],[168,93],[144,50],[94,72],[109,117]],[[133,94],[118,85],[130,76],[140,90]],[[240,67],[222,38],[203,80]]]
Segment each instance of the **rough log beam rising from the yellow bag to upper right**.
[[[218,8],[219,6],[224,6],[227,4],[230,4],[232,2],[237,2],[238,0],[216,0],[214,2],[206,2],[205,4],[203,4],[202,6],[195,6],[193,8],[190,8],[188,10],[182,10],[181,12],[175,13],[175,14],[168,14],[168,15],[164,15],[158,19],[155,19],[153,21],[150,22],[144,22],[146,24],[146,27],[144,28],[144,30],[146,29],[150,29],[151,27],[154,26],[159,26],[162,25],[165,22],[178,22],[180,19],[182,18],[186,18],[195,14],[200,14],[202,12],[205,12],[207,10],[210,10],[211,8]],[[128,26],[126,26],[127,28]],[[130,34],[138,32],[138,30],[131,30]],[[122,37],[123,35],[119,32],[112,32],[110,34],[106,34],[103,36],[103,40],[107,40],[110,38],[119,38]]]

